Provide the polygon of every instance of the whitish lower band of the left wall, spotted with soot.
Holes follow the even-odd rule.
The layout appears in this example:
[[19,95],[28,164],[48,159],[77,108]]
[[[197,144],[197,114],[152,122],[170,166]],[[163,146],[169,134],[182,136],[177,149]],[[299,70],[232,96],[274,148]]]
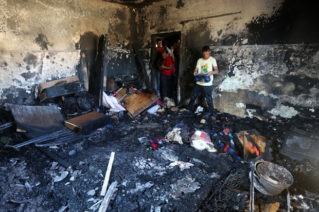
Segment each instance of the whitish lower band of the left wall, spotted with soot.
[[[79,50],[68,52],[4,52],[0,53],[0,96],[5,98],[5,89],[22,88],[27,93],[32,87],[52,78],[62,79],[76,74],[76,65],[79,61]],[[27,55],[33,55],[33,64],[25,62]],[[48,57],[46,57],[48,56]],[[27,70],[28,67],[28,70]],[[27,77],[25,77],[27,76]],[[16,92],[12,92],[13,97]]]

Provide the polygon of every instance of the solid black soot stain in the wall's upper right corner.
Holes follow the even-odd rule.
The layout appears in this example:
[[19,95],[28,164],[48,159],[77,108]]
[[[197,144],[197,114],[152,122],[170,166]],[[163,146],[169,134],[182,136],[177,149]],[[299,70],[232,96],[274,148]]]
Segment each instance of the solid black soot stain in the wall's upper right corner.
[[246,24],[250,44],[317,43],[319,13],[311,1],[294,0],[282,3],[271,16],[261,14]]

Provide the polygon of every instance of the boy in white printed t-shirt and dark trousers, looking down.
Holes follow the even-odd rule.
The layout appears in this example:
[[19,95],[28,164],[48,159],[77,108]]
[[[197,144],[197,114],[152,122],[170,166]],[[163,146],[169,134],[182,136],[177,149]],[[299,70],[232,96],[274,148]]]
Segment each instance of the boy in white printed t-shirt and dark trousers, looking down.
[[209,46],[202,48],[203,57],[197,61],[196,68],[193,70],[193,75],[197,76],[196,79],[198,81],[195,84],[193,94],[185,109],[193,109],[192,107],[196,99],[204,95],[207,101],[210,119],[215,121],[214,104],[212,103],[212,80],[214,80],[213,74],[218,73],[218,67],[215,58],[210,56],[210,52]]

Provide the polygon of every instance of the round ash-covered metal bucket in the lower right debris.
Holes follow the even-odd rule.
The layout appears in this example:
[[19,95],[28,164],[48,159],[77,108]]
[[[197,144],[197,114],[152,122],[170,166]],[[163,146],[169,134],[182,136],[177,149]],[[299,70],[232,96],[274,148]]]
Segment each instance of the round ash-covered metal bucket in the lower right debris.
[[276,196],[293,184],[292,175],[282,166],[268,161],[256,161],[254,166],[255,171],[249,177],[254,178],[254,187],[262,194]]

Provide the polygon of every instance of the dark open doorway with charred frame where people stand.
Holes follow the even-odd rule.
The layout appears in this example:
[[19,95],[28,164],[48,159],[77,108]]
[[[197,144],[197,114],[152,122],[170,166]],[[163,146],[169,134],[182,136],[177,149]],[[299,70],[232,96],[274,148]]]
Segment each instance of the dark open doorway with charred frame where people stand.
[[152,74],[151,74],[151,84],[152,87],[158,92],[158,97],[163,97],[161,91],[161,81],[160,76],[161,73],[158,71],[156,63],[158,61],[158,54],[156,53],[156,40],[161,39],[162,42],[165,41],[167,43],[167,47],[170,49],[171,47],[174,48],[173,54],[175,57],[174,68],[175,73],[173,74],[172,79],[172,90],[171,96],[173,100],[178,100],[178,87],[179,87],[179,76],[180,76],[180,45],[181,45],[181,32],[168,32],[168,33],[161,33],[161,34],[153,34],[151,37],[151,64],[152,64]]

